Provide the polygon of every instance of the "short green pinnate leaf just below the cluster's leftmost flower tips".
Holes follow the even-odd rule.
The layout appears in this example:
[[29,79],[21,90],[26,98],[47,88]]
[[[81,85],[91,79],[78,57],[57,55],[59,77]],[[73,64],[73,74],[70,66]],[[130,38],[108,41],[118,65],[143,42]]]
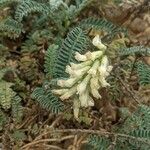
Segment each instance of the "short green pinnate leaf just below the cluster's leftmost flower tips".
[[52,113],[59,113],[63,110],[62,102],[52,94],[50,89],[45,89],[44,86],[37,87],[32,93],[32,98]]

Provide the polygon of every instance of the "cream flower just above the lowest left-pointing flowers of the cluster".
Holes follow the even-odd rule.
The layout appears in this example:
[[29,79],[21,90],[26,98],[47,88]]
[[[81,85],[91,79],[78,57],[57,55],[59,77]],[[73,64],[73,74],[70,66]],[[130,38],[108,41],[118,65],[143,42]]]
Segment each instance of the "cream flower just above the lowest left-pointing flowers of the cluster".
[[69,78],[67,80],[58,80],[57,85],[61,87],[72,87],[76,82],[77,78]]

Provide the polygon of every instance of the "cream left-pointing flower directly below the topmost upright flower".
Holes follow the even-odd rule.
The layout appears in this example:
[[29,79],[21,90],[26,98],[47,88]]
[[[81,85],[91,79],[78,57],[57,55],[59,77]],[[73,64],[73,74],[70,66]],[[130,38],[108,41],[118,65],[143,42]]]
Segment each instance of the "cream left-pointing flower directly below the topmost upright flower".
[[88,60],[94,61],[97,58],[100,58],[103,55],[103,51],[87,52],[85,55]]

